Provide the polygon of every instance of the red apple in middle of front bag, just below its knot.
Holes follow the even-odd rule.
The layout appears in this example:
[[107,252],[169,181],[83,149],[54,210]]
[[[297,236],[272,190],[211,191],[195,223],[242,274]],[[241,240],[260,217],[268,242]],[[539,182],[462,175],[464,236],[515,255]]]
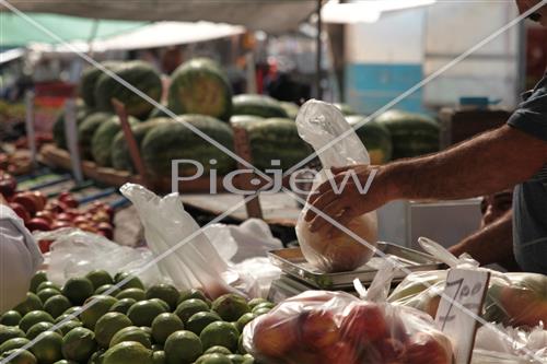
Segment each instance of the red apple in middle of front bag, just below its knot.
[[389,337],[382,306],[363,302],[351,307],[340,328],[344,340],[356,347]]

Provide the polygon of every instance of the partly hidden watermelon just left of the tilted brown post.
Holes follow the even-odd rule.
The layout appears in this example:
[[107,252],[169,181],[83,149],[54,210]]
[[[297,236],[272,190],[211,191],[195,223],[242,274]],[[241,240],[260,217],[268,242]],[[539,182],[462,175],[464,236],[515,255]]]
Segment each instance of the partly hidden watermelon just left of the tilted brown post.
[[[137,118],[129,117],[129,125],[139,122]],[[104,120],[93,133],[91,139],[91,154],[93,161],[102,167],[112,166],[112,148],[116,133],[121,130],[121,124],[117,115]]]

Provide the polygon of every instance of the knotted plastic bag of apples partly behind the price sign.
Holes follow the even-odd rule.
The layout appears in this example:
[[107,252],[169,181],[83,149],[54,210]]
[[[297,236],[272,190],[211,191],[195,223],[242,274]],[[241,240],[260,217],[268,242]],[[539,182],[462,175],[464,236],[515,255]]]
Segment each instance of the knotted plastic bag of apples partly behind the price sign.
[[[468,255],[456,258],[428,238],[420,237],[419,243],[424,250],[450,267],[486,269],[480,268],[479,263]],[[547,322],[547,275],[489,271],[490,282],[481,315],[487,321],[512,327],[535,327]],[[395,305],[420,309],[435,317],[446,272],[437,270],[408,274],[387,301]]]

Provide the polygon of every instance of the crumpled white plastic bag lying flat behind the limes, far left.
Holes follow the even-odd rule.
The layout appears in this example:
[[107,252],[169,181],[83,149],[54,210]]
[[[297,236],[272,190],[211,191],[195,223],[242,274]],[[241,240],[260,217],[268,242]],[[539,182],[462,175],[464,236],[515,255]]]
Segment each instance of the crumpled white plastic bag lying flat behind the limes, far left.
[[47,255],[47,277],[59,285],[95,269],[106,270],[112,275],[118,272],[137,274],[146,285],[171,282],[153,265],[143,270],[154,259],[147,248],[120,246],[102,235],[71,227],[39,232],[34,237],[54,242]]

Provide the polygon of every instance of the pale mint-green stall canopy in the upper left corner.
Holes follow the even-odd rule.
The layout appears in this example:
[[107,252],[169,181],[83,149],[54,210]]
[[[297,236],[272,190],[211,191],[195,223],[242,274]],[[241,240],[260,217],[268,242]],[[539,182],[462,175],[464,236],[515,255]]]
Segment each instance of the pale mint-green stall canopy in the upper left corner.
[[[31,21],[44,26],[65,42],[89,40],[135,31],[149,22],[94,20],[45,13],[27,13]],[[57,43],[48,34],[14,13],[0,13],[0,47],[24,47],[30,43]]]

